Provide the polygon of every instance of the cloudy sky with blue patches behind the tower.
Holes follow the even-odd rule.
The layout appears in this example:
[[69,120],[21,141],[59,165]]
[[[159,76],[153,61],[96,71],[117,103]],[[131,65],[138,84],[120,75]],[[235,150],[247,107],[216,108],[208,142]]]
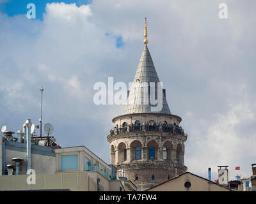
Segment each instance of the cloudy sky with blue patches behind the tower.
[[[36,18],[26,5],[34,3]],[[228,18],[219,18],[219,4]],[[110,163],[107,136],[122,105],[95,105],[93,85],[132,82],[148,49],[173,114],[188,134],[188,171],[229,179],[256,162],[256,2],[248,0],[0,0],[0,126],[54,126],[61,147],[84,145]],[[38,130],[36,132],[38,134]],[[241,170],[236,171],[235,167]]]

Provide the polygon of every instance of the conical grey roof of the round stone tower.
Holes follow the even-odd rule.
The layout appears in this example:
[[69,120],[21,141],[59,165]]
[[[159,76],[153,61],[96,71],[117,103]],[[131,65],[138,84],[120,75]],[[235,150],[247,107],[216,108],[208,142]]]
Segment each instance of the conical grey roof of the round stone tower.
[[[159,82],[159,78],[157,76],[156,69],[154,67],[154,63],[148,51],[147,45],[144,47],[144,50],[142,52],[140,63],[136,71],[134,81],[132,83],[131,91],[129,92],[129,97],[127,99],[127,105],[125,107],[124,114],[130,114],[130,113],[171,114],[164,94],[163,94],[163,108],[159,112],[152,112],[151,107],[154,107],[156,105],[152,105],[150,103],[150,97],[148,97],[148,104],[143,103],[145,102],[143,101],[143,99],[145,100],[143,95],[145,94],[145,91],[143,91],[142,82],[147,82],[148,85],[149,85],[149,82]],[[157,99],[157,87],[155,90],[156,90],[155,99]]]

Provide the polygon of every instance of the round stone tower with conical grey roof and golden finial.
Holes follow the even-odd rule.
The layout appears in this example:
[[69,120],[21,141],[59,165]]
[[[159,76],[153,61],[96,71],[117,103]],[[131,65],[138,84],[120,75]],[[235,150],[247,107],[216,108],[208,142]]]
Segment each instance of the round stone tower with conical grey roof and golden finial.
[[[147,47],[146,18],[145,38],[124,113],[112,120],[115,128],[108,135],[111,164],[116,167],[117,176],[131,180],[139,191],[187,170],[184,166],[187,135],[180,127],[182,119],[170,112],[165,89],[158,89],[161,85],[157,85],[159,78]],[[155,84],[155,88],[150,84]],[[158,111],[152,111],[156,104],[151,103],[151,94],[155,99],[159,95],[163,98]]]

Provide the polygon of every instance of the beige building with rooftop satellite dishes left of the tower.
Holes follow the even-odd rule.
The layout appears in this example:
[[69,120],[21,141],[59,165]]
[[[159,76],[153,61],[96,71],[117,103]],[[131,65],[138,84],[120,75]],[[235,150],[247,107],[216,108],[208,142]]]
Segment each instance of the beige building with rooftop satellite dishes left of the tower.
[[[131,181],[116,179],[115,167],[84,146],[54,148],[44,145],[44,137],[35,141],[31,134],[31,143],[28,145],[26,140],[15,140],[14,134],[12,131],[12,135],[6,132],[4,136],[0,135],[0,191],[137,190]],[[28,169],[33,170],[35,183],[28,182]]]

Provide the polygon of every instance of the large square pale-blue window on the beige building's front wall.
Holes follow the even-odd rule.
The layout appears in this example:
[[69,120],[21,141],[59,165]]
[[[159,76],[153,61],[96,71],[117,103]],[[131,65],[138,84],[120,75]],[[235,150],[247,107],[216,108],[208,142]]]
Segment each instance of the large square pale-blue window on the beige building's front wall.
[[78,159],[77,154],[73,155],[61,155],[60,157],[61,170],[77,170]]

